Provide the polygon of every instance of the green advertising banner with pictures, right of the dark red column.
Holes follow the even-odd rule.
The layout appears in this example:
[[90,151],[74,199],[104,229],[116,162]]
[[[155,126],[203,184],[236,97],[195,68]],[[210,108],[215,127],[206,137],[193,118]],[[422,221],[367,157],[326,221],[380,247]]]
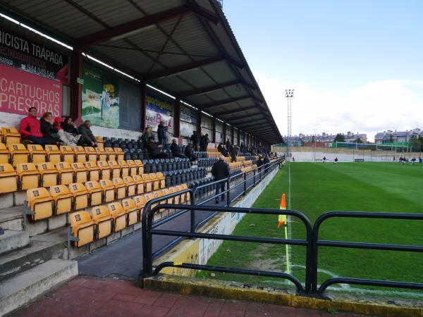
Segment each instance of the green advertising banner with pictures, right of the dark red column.
[[82,79],[82,120],[119,128],[119,80],[87,63],[82,64]]

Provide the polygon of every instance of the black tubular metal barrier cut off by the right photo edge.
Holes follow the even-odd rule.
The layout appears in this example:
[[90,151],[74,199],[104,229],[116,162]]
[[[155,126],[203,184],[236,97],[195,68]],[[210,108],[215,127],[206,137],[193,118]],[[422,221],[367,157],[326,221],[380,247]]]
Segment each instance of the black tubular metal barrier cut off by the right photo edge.
[[393,282],[389,280],[368,280],[363,278],[330,278],[321,283],[317,289],[317,269],[319,266],[319,247],[338,247],[353,249],[372,249],[387,251],[412,251],[423,252],[423,246],[400,245],[400,244],[381,244],[381,243],[364,243],[364,242],[341,242],[319,240],[319,229],[321,223],[329,218],[374,218],[374,219],[402,219],[402,220],[423,220],[421,213],[374,213],[364,211],[330,211],[322,214],[317,218],[313,227],[313,266],[312,266],[312,292],[323,294],[327,287],[333,284],[353,284],[353,285],[369,285],[380,287],[398,287],[405,289],[423,290],[423,283],[412,282]]

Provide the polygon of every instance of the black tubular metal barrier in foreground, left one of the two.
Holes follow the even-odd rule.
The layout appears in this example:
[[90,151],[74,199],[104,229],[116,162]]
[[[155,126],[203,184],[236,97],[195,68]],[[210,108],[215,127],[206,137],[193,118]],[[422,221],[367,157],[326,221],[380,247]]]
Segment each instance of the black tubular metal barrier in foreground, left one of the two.
[[[186,190],[188,192],[188,189]],[[162,197],[161,197],[162,198]],[[149,201],[149,203],[154,204],[157,201]],[[204,239],[214,239],[214,240],[230,240],[230,241],[239,241],[239,242],[257,242],[257,243],[269,243],[269,244],[289,244],[289,245],[302,245],[306,247],[306,263],[305,263],[305,287],[302,287],[301,283],[295,276],[288,273],[281,272],[270,272],[270,271],[257,271],[249,270],[244,268],[225,268],[225,267],[216,267],[216,266],[207,266],[207,265],[193,265],[190,263],[161,263],[161,268],[166,266],[179,266],[185,268],[194,268],[196,270],[204,271],[218,271],[218,272],[228,272],[228,273],[238,273],[238,274],[247,274],[247,275],[264,275],[274,278],[285,278],[290,280],[297,287],[298,293],[308,293],[309,287],[311,285],[311,273],[312,273],[312,225],[309,222],[309,219],[304,214],[293,211],[293,210],[284,210],[279,209],[252,209],[252,208],[233,208],[233,207],[220,207],[220,206],[188,206],[188,205],[171,205],[171,204],[160,204],[155,206],[153,209],[150,209],[147,206],[144,212],[142,213],[142,242],[143,242],[143,268],[142,276],[149,277],[159,271],[153,272],[153,261],[157,252],[153,254],[152,252],[152,235],[165,235],[173,237],[186,237],[186,238],[204,238]],[[246,236],[237,236],[237,235],[216,235],[209,233],[201,232],[186,232],[186,231],[177,231],[177,230],[157,230],[153,228],[153,219],[154,213],[157,213],[160,209],[188,209],[192,212],[197,211],[216,211],[221,213],[259,213],[265,215],[288,215],[295,216],[302,220],[302,223],[305,225],[306,229],[306,239],[305,240],[293,240],[293,239],[280,239],[280,238],[269,238],[269,237],[246,237]],[[154,256],[155,255],[155,256]],[[189,267],[191,266],[191,267]]]

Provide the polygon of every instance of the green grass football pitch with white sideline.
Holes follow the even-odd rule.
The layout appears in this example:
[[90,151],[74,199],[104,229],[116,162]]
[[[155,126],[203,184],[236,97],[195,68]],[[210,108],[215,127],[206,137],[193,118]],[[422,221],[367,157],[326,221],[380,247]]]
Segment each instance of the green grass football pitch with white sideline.
[[[312,224],[326,211],[423,213],[423,165],[290,163],[278,172],[254,206],[278,209],[283,193],[288,207],[305,213]],[[283,237],[283,229],[277,229],[277,216],[250,214],[233,235]],[[290,237],[305,238],[298,218],[290,219]],[[321,225],[319,239],[423,245],[423,221],[331,218]],[[304,282],[305,247],[290,247],[289,253],[291,273]],[[286,271],[285,246],[225,241],[207,264]],[[203,271],[199,276],[207,278],[209,273]],[[423,282],[423,254],[319,247],[319,283],[333,277]],[[247,275],[216,273],[216,278],[271,287],[286,285],[276,278]],[[376,294],[406,292],[357,285],[334,287],[347,292],[359,288]],[[419,297],[418,292],[407,294]]]

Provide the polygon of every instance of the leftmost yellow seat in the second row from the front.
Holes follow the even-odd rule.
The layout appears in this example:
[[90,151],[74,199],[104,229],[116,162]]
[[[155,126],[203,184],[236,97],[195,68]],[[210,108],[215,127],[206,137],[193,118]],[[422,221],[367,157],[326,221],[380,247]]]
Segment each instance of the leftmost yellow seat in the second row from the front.
[[53,197],[44,187],[27,190],[27,206],[32,211],[32,220],[39,220],[53,216]]

